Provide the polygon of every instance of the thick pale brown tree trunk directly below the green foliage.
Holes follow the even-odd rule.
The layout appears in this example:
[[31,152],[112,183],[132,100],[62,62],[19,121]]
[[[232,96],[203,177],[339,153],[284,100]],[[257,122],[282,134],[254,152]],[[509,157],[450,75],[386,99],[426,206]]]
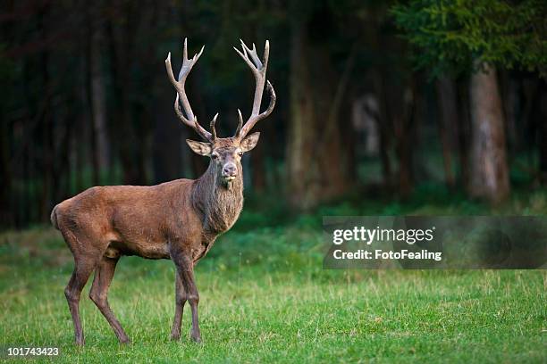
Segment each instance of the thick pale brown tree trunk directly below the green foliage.
[[490,65],[471,76],[470,193],[499,203],[509,195],[509,169],[501,98]]

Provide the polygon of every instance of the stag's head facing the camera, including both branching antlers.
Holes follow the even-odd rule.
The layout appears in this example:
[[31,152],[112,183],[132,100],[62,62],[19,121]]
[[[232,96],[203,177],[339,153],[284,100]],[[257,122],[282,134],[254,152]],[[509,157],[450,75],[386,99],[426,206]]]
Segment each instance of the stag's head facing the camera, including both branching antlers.
[[[251,50],[241,40],[242,49],[239,50],[236,47],[233,48],[238,54],[240,54],[243,61],[248,64],[248,67],[255,76],[257,85],[255,88],[255,98],[251,115],[248,117],[245,124],[243,124],[243,116],[241,115],[240,109],[238,109],[238,128],[236,129],[234,136],[230,137],[216,136],[215,123],[218,118],[218,113],[216,113],[213,120],[211,120],[211,132],[208,132],[205,128],[202,128],[198,123],[198,119],[192,112],[188,97],[186,96],[186,91],[184,89],[186,78],[188,77],[189,71],[192,69],[194,64],[198,62],[199,57],[203,53],[204,47],[205,45],[201,48],[201,51],[199,51],[198,54],[195,54],[191,59],[188,59],[187,39],[184,39],[182,67],[179,72],[178,80],[175,79],[173,75],[171,53],[169,53],[167,55],[167,59],[165,59],[165,67],[167,69],[167,75],[169,76],[173,87],[177,91],[177,96],[174,103],[175,113],[184,124],[190,128],[193,128],[198,135],[204,139],[204,142],[198,142],[190,139],[187,139],[186,142],[194,153],[211,158],[211,164],[215,168],[217,177],[223,180],[224,183],[230,183],[235,178],[241,176],[242,171],[240,161],[243,153],[250,151],[258,143],[260,133],[253,133],[250,135],[248,135],[248,133],[259,120],[265,119],[268,115],[270,115],[270,113],[272,113],[273,106],[275,105],[275,92],[273,91],[272,84],[265,79],[266,69],[268,66],[268,56],[270,53],[270,44],[266,40],[264,58],[262,61],[258,58],[257,49],[254,44],[253,49]],[[267,83],[266,88],[270,93],[270,104],[265,112],[260,112],[260,104],[262,102],[262,93],[264,92],[265,83]],[[179,101],[182,103],[186,116],[181,111]]]

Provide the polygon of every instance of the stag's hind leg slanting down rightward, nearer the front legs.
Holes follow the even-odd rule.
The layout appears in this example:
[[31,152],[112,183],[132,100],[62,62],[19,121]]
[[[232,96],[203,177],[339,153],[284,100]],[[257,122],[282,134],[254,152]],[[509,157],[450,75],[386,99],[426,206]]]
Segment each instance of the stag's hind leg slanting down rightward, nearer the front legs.
[[99,262],[97,269],[95,270],[95,277],[93,278],[93,285],[89,291],[89,298],[95,302],[97,308],[105,316],[106,321],[110,324],[114,330],[114,334],[118,337],[120,343],[130,343],[129,337],[123,331],[122,325],[114,317],[114,312],[108,305],[108,288],[114,277],[114,270],[116,269],[116,263],[119,258],[108,258],[103,256]]

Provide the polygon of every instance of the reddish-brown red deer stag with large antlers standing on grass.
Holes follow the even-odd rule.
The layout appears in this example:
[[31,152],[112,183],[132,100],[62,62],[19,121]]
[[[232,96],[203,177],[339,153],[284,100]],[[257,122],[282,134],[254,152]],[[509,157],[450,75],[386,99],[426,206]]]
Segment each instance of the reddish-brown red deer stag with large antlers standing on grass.
[[[184,89],[189,71],[198,62],[201,51],[188,59],[186,39],[179,79],[171,66],[171,53],[165,67],[177,96],[174,111],[181,121],[193,128],[206,142],[187,140],[192,151],[210,158],[209,167],[198,179],[177,179],[157,186],[96,186],[55,206],[51,220],[61,231],[74,256],[74,271],[64,290],[71,310],[76,344],[84,343],[80,322],[81,291],[95,270],[90,299],[105,316],[121,343],[129,343],[120,322],[114,317],[107,300],[108,287],[116,263],[122,255],[147,259],[171,259],[176,266],[175,314],[171,336],[181,336],[182,309],[188,301],[192,312],[191,338],[201,341],[198,325],[199,294],[194,279],[194,266],[211,249],[217,236],[236,222],[243,207],[241,155],[257,145],[259,133],[248,135],[259,120],[273,111],[275,93],[267,82],[271,101],[260,112],[264,91],[269,44],[265,42],[264,59],[260,61],[255,45],[252,50],[241,41],[234,49],[252,70],[257,87],[253,110],[247,122],[239,112],[234,136],[217,137],[215,121],[211,132],[198,124]],[[181,112],[182,103],[185,114]]]

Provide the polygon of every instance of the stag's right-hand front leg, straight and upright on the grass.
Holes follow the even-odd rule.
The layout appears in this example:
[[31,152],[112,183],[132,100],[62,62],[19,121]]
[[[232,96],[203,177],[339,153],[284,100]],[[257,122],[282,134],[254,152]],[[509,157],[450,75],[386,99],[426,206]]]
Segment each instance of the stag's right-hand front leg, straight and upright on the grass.
[[[194,263],[190,261],[185,254],[181,253],[172,254],[172,258],[177,267],[177,273],[179,275],[179,278],[181,279],[182,287],[186,293],[185,298],[189,302],[190,310],[192,310],[192,328],[190,330],[190,337],[196,343],[201,343],[201,334],[199,331],[198,322],[199,294],[194,279]],[[177,326],[179,326],[177,310],[175,310],[175,322],[173,323],[173,328],[175,326],[174,324],[177,324]]]

